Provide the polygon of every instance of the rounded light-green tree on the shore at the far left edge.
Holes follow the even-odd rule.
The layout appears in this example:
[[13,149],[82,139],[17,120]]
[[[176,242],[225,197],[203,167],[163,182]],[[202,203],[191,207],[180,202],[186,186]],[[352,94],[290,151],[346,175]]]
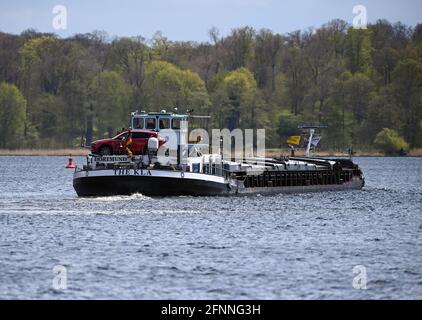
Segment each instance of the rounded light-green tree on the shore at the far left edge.
[[0,147],[16,148],[23,144],[26,100],[19,89],[0,83]]

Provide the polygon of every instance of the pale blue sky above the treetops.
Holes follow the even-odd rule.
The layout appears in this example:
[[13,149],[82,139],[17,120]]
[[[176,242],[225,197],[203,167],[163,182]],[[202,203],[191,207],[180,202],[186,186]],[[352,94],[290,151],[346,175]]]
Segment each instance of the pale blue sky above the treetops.
[[[226,35],[246,25],[287,33],[335,18],[352,23],[353,7],[360,4],[369,22],[422,22],[421,0],[0,0],[0,31],[34,28],[66,37],[105,30],[111,36],[151,38],[160,30],[171,40],[204,41],[212,26]],[[55,5],[67,9],[66,30],[53,28]]]

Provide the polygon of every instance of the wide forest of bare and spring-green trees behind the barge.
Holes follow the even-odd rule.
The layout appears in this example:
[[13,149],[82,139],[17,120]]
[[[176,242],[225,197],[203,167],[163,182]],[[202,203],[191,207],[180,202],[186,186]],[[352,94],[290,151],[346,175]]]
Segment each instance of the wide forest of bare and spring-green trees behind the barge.
[[0,32],[2,149],[77,147],[127,127],[131,111],[174,108],[212,128],[265,128],[270,148],[303,124],[328,126],[326,150],[421,148],[422,24],[213,27],[202,43]]

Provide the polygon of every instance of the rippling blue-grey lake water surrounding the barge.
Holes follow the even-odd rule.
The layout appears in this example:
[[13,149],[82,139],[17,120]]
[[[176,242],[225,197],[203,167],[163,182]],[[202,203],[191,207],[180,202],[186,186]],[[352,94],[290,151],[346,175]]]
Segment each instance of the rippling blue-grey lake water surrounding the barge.
[[421,299],[422,158],[355,161],[362,191],[84,199],[0,157],[0,298]]

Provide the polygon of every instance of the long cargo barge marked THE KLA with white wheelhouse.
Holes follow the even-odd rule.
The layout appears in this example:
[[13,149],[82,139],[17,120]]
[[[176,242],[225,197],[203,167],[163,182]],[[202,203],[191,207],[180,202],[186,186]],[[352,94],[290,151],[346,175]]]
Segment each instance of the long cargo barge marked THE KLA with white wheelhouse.
[[90,154],[73,175],[78,196],[264,195],[359,190],[365,184],[362,170],[350,159],[257,156],[234,160],[221,152],[210,154],[208,144],[189,143],[190,118],[165,111],[132,113],[132,129],[156,131],[167,142],[161,145],[157,138],[150,138],[144,154]]

